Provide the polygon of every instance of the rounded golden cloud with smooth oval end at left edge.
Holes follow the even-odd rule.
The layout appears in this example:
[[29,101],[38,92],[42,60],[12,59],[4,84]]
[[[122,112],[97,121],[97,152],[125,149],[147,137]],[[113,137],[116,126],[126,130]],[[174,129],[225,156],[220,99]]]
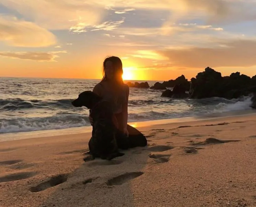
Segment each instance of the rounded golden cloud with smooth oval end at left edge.
[[55,36],[32,22],[0,16],[0,41],[17,47],[47,47],[56,44]]

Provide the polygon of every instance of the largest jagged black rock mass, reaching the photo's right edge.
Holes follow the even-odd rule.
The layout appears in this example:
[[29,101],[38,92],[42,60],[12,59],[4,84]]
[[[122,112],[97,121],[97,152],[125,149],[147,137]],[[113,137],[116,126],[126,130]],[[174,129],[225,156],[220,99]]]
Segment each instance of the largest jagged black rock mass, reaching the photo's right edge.
[[230,76],[221,76],[220,72],[212,68],[205,68],[204,72],[191,78],[190,98],[239,98],[256,92],[256,80],[240,72],[232,73]]

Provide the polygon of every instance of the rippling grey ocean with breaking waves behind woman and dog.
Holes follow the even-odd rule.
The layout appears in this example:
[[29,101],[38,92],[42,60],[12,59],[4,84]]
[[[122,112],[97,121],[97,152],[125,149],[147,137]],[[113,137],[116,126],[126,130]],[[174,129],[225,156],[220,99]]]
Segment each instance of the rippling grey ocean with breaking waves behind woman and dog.
[[[17,133],[90,126],[89,110],[71,101],[100,80],[0,78],[0,133]],[[135,81],[131,81],[135,82]],[[142,82],[142,81],[138,81]],[[143,81],[144,82],[144,81]],[[157,81],[147,81],[153,86]],[[170,99],[162,90],[130,88],[128,122],[214,116],[251,110],[249,97],[227,100]]]

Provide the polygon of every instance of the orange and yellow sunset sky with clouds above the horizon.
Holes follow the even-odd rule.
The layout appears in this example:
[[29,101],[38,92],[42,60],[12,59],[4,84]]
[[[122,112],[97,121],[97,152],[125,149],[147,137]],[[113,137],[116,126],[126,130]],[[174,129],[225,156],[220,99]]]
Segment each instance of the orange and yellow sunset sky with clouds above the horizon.
[[256,74],[256,0],[1,0],[0,76],[189,80]]

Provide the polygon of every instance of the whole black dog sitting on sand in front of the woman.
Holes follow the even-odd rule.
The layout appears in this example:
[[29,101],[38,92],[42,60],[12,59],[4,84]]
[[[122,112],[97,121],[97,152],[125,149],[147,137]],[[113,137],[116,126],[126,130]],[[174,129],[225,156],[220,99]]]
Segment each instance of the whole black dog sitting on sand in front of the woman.
[[92,159],[100,157],[111,160],[124,155],[118,149],[115,138],[116,127],[112,122],[113,112],[108,101],[102,100],[97,94],[87,90],[80,93],[78,98],[72,101],[72,105],[75,107],[85,106],[92,111],[92,137],[89,141]]

